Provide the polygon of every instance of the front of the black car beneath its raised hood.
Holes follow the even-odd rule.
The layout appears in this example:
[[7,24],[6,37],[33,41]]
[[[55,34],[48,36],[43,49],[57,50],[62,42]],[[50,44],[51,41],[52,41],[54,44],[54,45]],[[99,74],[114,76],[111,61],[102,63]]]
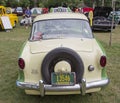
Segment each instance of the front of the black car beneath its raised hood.
[[[115,22],[113,22],[113,29],[115,29]],[[112,21],[103,16],[96,16],[93,18],[93,30],[111,31]]]

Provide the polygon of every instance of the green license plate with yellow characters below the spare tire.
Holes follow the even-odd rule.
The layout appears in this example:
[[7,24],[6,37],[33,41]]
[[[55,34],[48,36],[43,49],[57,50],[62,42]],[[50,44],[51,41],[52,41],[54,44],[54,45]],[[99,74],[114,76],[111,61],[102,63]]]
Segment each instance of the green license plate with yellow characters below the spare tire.
[[76,82],[75,72],[70,73],[52,73],[52,85],[74,85]]

